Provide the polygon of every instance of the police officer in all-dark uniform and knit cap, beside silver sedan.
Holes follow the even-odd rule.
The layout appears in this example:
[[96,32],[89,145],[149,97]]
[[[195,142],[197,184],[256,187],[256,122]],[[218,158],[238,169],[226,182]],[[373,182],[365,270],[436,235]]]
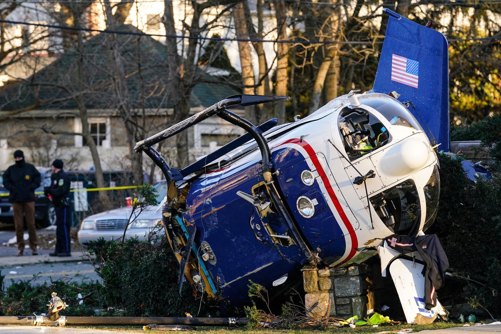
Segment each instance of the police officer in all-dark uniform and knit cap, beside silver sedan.
[[70,243],[70,179],[63,170],[63,161],[52,163],[51,186],[45,187],[46,195],[52,196],[56,211],[56,251],[51,256],[71,256]]

